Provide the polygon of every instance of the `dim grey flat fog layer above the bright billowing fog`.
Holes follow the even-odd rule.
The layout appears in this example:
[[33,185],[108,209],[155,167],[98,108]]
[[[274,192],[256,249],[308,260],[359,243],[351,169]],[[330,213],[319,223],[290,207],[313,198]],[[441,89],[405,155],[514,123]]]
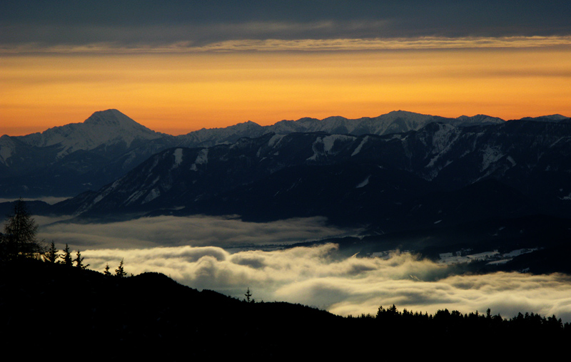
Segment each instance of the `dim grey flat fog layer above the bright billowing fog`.
[[[323,239],[357,230],[330,227],[324,217],[277,222],[242,222],[223,217],[142,217],[125,222],[58,222],[64,218],[36,217],[39,238],[69,244],[72,248],[128,249],[143,247],[206,247],[231,249],[253,245],[284,244]],[[54,223],[57,222],[57,223]]]

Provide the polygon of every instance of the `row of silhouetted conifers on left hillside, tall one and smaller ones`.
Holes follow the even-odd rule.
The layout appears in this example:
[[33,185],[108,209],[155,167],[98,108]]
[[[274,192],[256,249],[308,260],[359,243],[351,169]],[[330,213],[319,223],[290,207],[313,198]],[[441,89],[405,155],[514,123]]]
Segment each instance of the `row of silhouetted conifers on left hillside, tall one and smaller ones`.
[[[28,212],[26,202],[20,198],[14,203],[14,211],[6,219],[4,233],[0,233],[0,262],[42,259],[44,262],[63,264],[66,267],[78,267],[80,269],[89,267],[89,264],[84,264],[84,257],[81,257],[80,250],[77,250],[76,257],[73,258],[69,245],[66,244],[63,253],[59,254],[54,241],[49,247],[46,247],[44,240],[38,241],[36,239],[37,232],[38,225]],[[109,269],[109,264],[107,264],[103,274],[113,275]],[[127,276],[123,259],[115,269],[115,276]]]

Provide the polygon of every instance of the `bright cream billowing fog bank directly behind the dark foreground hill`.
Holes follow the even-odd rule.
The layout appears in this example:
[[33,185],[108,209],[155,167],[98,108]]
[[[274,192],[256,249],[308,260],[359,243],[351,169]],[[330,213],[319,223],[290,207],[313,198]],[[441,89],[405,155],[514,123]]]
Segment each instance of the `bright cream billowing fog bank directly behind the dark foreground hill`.
[[512,317],[518,311],[555,314],[571,321],[571,279],[561,274],[450,275],[442,264],[410,254],[390,259],[335,257],[337,246],[230,253],[219,247],[94,250],[82,253],[92,269],[159,271],[181,284],[243,298],[247,288],[260,301],[289,301],[340,315],[375,314],[378,306],[428,311],[456,309]]

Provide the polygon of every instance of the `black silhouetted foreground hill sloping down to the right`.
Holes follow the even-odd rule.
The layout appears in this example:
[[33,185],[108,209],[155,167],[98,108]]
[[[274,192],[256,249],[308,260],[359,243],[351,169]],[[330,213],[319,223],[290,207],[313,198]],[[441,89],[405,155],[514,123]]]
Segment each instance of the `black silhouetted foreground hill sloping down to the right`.
[[[0,264],[0,341],[26,357],[188,361],[192,358],[325,358],[398,351],[448,356],[491,348],[495,356],[564,346],[555,316],[512,319],[380,308],[343,318],[288,303],[248,303],[197,291],[163,274],[118,278],[36,260]],[[537,346],[537,348],[535,347]],[[555,348],[556,349],[556,348]],[[550,353],[549,351],[542,351]],[[66,357],[66,359],[68,359]]]

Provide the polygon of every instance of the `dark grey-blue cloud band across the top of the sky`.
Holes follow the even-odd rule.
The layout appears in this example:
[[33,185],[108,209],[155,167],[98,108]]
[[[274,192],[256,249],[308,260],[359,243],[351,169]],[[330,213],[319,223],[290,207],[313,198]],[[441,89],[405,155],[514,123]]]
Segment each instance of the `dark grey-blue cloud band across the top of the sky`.
[[565,36],[568,1],[2,1],[0,45]]

